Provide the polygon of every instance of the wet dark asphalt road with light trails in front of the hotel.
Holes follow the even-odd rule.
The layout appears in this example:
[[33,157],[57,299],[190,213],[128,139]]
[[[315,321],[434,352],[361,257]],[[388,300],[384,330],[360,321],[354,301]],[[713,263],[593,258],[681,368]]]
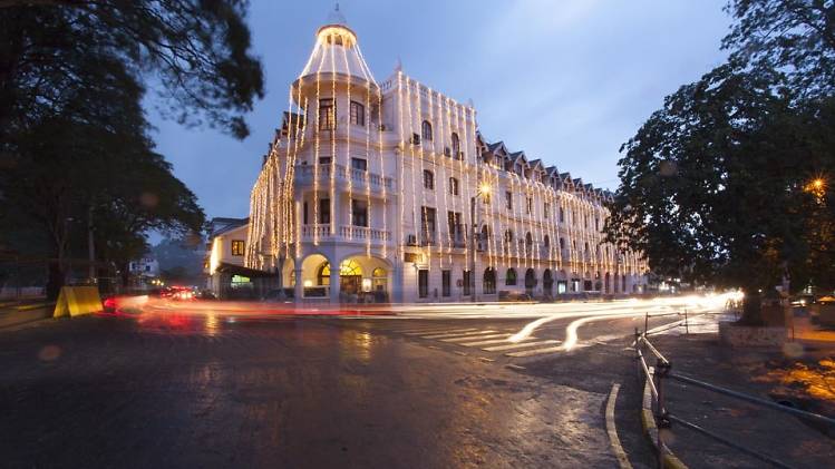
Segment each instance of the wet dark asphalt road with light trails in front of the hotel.
[[473,307],[299,316],[166,303],[0,330],[2,466],[616,467],[613,382],[624,447],[649,465],[625,350],[643,316],[579,325],[565,349],[571,323],[600,311],[511,342],[536,307]]

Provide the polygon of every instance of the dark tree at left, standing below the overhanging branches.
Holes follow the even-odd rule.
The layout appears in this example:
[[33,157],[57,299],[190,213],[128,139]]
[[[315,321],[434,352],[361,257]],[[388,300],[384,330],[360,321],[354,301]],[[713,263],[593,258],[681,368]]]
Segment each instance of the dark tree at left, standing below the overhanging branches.
[[14,237],[13,232],[28,225],[46,234],[43,254],[54,260],[50,297],[66,277],[72,222],[93,214],[100,245],[109,247],[100,254],[124,268],[126,256],[147,247],[147,229],[198,232],[204,219],[194,194],[153,150],[140,106],[143,88],[120,61],[108,58],[67,57],[67,69],[96,77],[95,82],[65,89],[52,113],[30,120],[4,141],[12,153],[0,172],[0,218],[18,223],[3,223],[2,234]]

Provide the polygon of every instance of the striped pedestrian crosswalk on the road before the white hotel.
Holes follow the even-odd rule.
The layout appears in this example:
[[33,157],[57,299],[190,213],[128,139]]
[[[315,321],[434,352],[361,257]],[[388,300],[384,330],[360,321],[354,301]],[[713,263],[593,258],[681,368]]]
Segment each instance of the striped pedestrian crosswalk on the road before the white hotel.
[[[435,343],[473,349],[478,352],[498,353],[499,355],[521,359],[560,353],[563,351],[562,341],[528,336],[517,342],[511,342],[513,332],[502,331],[501,328],[440,328],[424,326],[419,329],[402,329],[395,332],[410,339],[431,341],[428,345],[438,349]],[[515,331],[514,331],[515,332]],[[460,350],[453,350],[457,354],[465,354]]]

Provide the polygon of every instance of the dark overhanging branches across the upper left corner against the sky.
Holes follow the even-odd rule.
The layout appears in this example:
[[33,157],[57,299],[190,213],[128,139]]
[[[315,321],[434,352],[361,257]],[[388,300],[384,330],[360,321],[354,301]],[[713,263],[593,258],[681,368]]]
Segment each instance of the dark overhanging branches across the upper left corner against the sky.
[[0,129],[61,113],[68,89],[95,87],[67,65],[93,55],[120,62],[138,82],[153,77],[163,110],[178,121],[243,138],[242,115],[263,97],[246,7],[242,0],[0,1]]

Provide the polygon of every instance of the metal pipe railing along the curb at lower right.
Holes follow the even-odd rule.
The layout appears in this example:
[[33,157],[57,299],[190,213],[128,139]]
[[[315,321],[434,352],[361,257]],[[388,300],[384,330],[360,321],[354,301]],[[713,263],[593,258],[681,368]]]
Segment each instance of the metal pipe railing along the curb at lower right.
[[[681,314],[681,313],[673,313],[673,314]],[[668,314],[662,314],[662,315],[668,315]],[[648,335],[647,325],[649,322],[649,316],[650,315],[647,314],[644,319],[643,331],[639,331],[638,329],[635,329],[634,350],[635,350],[635,359],[638,360],[640,364],[640,370],[643,373],[643,377],[647,380],[647,385],[649,387],[650,393],[652,394],[652,414],[656,421],[656,427],[658,428],[656,447],[657,447],[659,468],[664,467],[664,462],[663,462],[664,456],[666,456],[666,452],[668,451],[663,442],[661,429],[670,428],[672,423],[676,423],[683,428],[692,430],[716,442],[722,443],[727,446],[728,448],[732,448],[739,452],[742,452],[763,462],[767,462],[774,467],[792,468],[792,466],[776,458],[773,458],[756,449],[748,448],[741,443],[731,441],[725,437],[721,437],[715,433],[713,431],[705,429],[693,422],[689,422],[673,413],[670,413],[670,409],[668,408],[667,400],[666,400],[668,380],[674,380],[674,381],[686,383],[686,384],[689,384],[689,385],[692,385],[692,387],[696,387],[696,388],[699,388],[709,392],[734,398],[736,400],[740,400],[740,401],[744,401],[744,402],[747,402],[749,404],[754,404],[757,407],[776,410],[783,413],[788,413],[788,414],[805,419],[808,422],[814,422],[821,426],[835,429],[835,419],[832,419],[829,417],[821,416],[814,412],[807,412],[805,410],[796,409],[793,407],[783,406],[776,402],[771,402],[771,401],[758,398],[756,395],[750,395],[750,394],[746,394],[742,392],[734,391],[734,390],[722,388],[722,387],[719,387],[719,385],[716,385],[706,381],[697,380],[695,378],[691,378],[684,374],[673,372],[672,363],[663,354],[661,354],[661,352],[647,339],[647,335]],[[688,323],[687,312],[684,312],[684,320],[682,322],[683,324],[677,324],[677,325],[684,325],[686,328],[689,329],[689,326],[687,326],[687,323]],[[650,365],[647,363],[647,355],[644,354],[644,350],[648,351],[649,354],[651,354],[651,356],[656,359],[654,368],[650,368]]]

